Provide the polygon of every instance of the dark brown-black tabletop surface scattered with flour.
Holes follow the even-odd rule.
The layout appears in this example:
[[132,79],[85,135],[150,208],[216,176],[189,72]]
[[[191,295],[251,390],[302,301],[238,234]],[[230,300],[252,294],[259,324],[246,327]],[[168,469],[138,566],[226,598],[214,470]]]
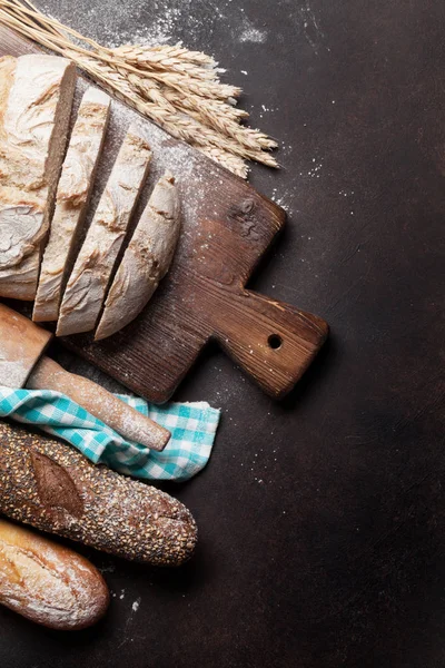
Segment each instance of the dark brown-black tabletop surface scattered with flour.
[[170,488],[198,520],[196,559],[171,572],[85,551],[115,593],[107,619],[56,633],[0,609],[0,665],[442,668],[443,0],[40,7],[108,43],[181,39],[229,69],[281,145],[284,169],[251,183],[289,213],[254,286],[332,337],[280,405],[207,351],[178,399],[221,406],[217,444]]

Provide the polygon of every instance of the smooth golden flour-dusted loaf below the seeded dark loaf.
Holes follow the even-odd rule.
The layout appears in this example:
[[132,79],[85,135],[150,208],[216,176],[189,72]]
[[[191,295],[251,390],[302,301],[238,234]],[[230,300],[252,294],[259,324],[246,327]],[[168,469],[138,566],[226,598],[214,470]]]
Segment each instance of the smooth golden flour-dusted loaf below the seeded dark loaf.
[[109,593],[87,559],[0,520],[0,603],[51,629],[79,630],[105,615]]

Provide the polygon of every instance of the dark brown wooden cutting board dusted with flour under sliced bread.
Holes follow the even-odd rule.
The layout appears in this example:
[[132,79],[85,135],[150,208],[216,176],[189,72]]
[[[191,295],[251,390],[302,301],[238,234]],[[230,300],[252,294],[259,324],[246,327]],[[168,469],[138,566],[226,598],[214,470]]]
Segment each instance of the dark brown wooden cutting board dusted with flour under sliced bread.
[[[0,27],[0,55],[40,49]],[[77,102],[87,86],[78,84]],[[154,150],[148,194],[166,168],[177,178],[182,233],[174,265],[137,321],[95,343],[91,336],[63,343],[123,385],[154,402],[167,401],[209,340],[217,340],[268,394],[284,396],[323,345],[327,324],[295,306],[245,285],[285,224],[285,212],[240,178],[174,139],[132,109],[113,101],[91,214],[119,144],[137,120]],[[89,220],[87,220],[88,224]]]

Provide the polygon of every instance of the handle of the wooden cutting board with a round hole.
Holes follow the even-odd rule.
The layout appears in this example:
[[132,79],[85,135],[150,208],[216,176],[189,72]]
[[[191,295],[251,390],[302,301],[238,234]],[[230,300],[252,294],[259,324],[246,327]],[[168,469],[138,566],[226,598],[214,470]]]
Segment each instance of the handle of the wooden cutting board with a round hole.
[[327,323],[247,289],[220,298],[216,338],[265,392],[283,397],[326,341]]

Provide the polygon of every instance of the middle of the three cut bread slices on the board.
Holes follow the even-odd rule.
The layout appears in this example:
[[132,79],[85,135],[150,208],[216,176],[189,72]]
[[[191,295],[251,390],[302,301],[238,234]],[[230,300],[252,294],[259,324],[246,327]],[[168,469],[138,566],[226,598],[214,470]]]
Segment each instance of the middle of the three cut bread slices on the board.
[[68,279],[57,336],[95,328],[150,159],[147,140],[131,125]]

